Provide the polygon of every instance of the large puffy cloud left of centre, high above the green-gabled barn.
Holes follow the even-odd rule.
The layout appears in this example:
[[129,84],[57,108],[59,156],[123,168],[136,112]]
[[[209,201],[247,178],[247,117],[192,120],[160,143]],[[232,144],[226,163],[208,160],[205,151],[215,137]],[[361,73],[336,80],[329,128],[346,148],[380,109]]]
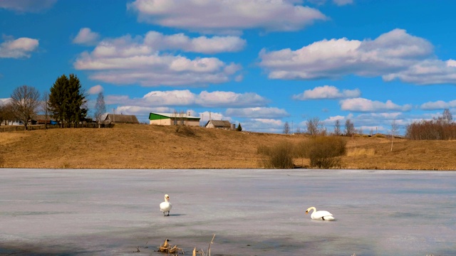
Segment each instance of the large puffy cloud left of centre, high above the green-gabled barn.
[[[106,39],[98,43],[92,52],[81,53],[73,65],[77,70],[93,71],[90,75],[93,80],[142,86],[222,83],[236,78],[237,71],[241,69],[236,63],[224,63],[214,57],[190,59],[160,53],[151,40],[147,36],[146,40],[141,36]],[[163,43],[157,46],[166,48]],[[175,44],[167,49],[177,47]]]

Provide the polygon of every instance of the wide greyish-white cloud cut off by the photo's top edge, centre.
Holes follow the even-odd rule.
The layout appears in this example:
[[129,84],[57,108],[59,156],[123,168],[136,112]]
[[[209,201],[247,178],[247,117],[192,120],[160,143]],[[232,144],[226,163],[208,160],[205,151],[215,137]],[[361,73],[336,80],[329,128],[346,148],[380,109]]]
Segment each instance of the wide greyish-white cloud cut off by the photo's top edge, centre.
[[296,0],[135,0],[128,9],[138,20],[206,33],[240,33],[244,29],[297,31],[326,16]]

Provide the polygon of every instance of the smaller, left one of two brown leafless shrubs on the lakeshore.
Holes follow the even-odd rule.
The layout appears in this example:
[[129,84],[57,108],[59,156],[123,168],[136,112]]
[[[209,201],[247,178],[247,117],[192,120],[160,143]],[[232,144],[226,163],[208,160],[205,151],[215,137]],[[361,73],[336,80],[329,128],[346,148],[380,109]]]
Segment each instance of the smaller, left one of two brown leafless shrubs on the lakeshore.
[[264,156],[262,165],[269,169],[294,168],[294,146],[288,142],[280,142],[273,146],[258,146],[257,153]]

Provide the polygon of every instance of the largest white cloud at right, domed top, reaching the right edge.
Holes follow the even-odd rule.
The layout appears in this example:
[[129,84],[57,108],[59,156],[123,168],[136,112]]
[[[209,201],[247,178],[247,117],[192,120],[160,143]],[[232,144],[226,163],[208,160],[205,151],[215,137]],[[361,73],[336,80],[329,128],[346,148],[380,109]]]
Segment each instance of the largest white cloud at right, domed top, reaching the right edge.
[[259,65],[269,78],[284,80],[335,79],[344,75],[382,76],[420,85],[456,83],[454,60],[437,60],[432,44],[394,29],[374,40],[323,40],[298,50],[259,53]]

